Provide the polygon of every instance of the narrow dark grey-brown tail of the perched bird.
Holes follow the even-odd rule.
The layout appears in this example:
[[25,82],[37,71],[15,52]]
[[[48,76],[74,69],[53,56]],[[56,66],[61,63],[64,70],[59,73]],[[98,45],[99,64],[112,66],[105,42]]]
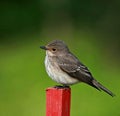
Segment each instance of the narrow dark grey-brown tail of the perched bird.
[[100,84],[99,82],[97,82],[96,80],[92,81],[93,85],[95,86],[95,88],[97,88],[98,90],[103,90],[104,92],[106,92],[107,94],[111,95],[112,97],[115,96],[114,93],[112,93],[110,90],[108,90],[106,87],[104,87],[102,84]]

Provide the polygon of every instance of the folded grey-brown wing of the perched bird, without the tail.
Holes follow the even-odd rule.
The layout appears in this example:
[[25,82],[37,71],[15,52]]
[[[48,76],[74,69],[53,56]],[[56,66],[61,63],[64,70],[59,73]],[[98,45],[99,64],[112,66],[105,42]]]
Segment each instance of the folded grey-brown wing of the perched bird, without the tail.
[[59,67],[73,78],[90,84],[93,80],[88,68],[83,65],[73,54],[69,53],[65,57],[58,58]]

